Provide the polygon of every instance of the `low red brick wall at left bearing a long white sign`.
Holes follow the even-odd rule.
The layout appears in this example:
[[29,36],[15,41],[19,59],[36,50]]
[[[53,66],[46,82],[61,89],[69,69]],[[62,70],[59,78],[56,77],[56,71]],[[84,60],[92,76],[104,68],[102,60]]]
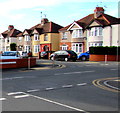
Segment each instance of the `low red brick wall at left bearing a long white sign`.
[[30,67],[35,66],[36,65],[36,58],[1,59],[0,60],[0,69],[25,68],[25,67],[28,67],[29,64],[30,64]]

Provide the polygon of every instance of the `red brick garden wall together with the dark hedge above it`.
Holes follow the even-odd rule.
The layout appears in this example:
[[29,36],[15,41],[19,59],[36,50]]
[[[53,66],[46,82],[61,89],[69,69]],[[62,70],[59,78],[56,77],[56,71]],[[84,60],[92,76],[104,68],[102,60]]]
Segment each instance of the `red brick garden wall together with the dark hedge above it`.
[[90,47],[90,61],[120,61],[120,47]]

